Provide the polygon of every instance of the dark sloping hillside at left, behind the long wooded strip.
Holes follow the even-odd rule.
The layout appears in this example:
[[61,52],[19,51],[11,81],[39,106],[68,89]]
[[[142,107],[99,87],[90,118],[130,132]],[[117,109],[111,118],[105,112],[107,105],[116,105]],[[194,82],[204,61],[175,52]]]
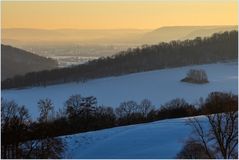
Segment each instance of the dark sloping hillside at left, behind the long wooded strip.
[[53,69],[57,61],[41,57],[30,52],[1,45],[1,76],[2,80],[27,72]]

